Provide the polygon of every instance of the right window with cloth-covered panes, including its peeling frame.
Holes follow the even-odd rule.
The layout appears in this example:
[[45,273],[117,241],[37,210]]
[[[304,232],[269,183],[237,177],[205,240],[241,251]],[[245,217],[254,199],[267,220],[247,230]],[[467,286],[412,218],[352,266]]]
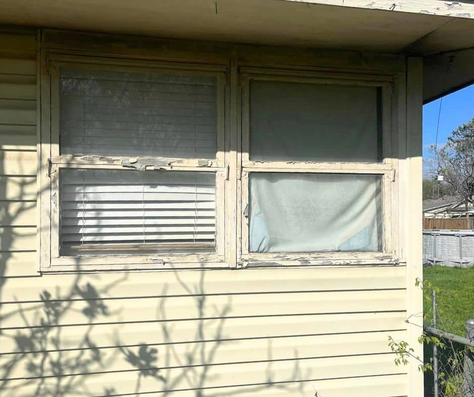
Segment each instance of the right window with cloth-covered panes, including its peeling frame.
[[259,72],[242,78],[244,262],[390,256],[390,84]]

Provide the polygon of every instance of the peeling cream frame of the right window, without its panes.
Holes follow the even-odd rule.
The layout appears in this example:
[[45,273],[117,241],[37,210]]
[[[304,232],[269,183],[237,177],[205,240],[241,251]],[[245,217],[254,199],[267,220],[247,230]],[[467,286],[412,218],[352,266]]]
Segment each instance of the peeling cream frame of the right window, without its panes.
[[[329,84],[378,87],[381,89],[382,159],[380,162],[317,162],[317,161],[253,161],[250,153],[250,83],[252,80],[280,81],[307,84]],[[265,266],[266,263],[301,266],[302,264],[373,264],[396,263],[398,258],[397,223],[392,222],[397,208],[398,181],[395,172],[398,160],[392,141],[393,76],[357,75],[353,73],[318,73],[306,71],[272,70],[260,68],[241,69],[241,142],[240,169],[240,259],[241,266]],[[382,238],[381,252],[301,252],[301,253],[254,253],[249,252],[249,174],[251,172],[300,172],[341,173],[382,176]]]

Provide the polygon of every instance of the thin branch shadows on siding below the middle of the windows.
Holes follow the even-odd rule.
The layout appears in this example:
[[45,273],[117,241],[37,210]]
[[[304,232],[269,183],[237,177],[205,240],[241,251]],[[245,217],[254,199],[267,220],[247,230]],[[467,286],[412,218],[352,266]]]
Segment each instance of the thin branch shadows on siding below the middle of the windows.
[[[173,311],[172,297],[167,295],[168,286],[164,285],[157,309],[159,334],[162,335],[163,342],[156,345],[141,344],[137,353],[130,349],[121,349],[126,360],[140,370],[135,387],[136,395],[140,394],[141,379],[144,377],[151,377],[159,381],[157,388],[153,391],[160,391],[160,395],[163,397],[172,394],[176,389],[193,393],[195,397],[251,395],[270,388],[288,391],[301,390],[300,383],[291,384],[304,378],[298,365],[298,352],[295,351],[292,371],[284,379],[280,378],[275,382],[272,363],[278,360],[272,360],[270,343],[267,347],[266,364],[264,364],[266,368],[265,371],[262,371],[262,377],[258,384],[245,385],[241,390],[231,389],[231,387],[228,391],[225,391],[225,388],[220,388],[217,392],[213,390],[213,388],[219,387],[215,381],[219,378],[219,374],[215,369],[218,370],[219,367],[232,364],[245,368],[253,362],[253,358],[250,355],[238,361],[232,361],[231,351],[228,351],[228,355],[225,355],[226,359],[223,360],[223,353],[225,353],[221,349],[223,345],[236,341],[226,335],[225,329],[225,322],[232,311],[232,302],[229,295],[219,296],[222,299],[219,304],[213,304],[210,301],[211,295],[205,293],[205,275],[208,272],[202,270],[199,281],[191,284],[182,280],[179,271],[174,271],[177,283],[186,293],[183,296],[189,297],[193,302],[188,309],[190,312],[191,309],[194,311],[187,315],[187,319],[184,319],[195,323],[191,327],[193,330],[188,334],[190,339],[183,340],[180,337],[175,337],[176,324],[182,323],[183,318],[180,318],[179,313]],[[169,308],[167,307],[168,303]],[[189,328],[184,327],[183,329],[186,332],[186,329]],[[120,340],[117,340],[116,344],[117,346],[122,345]],[[245,372],[245,369],[243,371]],[[222,384],[222,386],[229,385]],[[150,389],[148,388],[145,392],[149,393]]]

